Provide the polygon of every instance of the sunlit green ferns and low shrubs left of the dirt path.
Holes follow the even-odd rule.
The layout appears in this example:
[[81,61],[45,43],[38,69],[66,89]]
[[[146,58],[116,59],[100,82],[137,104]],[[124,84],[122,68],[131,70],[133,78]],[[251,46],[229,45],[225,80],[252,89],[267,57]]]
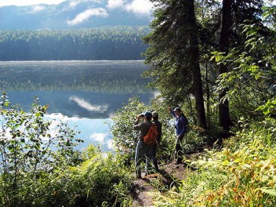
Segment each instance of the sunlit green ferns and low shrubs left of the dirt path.
[[132,175],[112,154],[88,146],[79,166],[55,171],[53,206],[116,206],[130,203]]

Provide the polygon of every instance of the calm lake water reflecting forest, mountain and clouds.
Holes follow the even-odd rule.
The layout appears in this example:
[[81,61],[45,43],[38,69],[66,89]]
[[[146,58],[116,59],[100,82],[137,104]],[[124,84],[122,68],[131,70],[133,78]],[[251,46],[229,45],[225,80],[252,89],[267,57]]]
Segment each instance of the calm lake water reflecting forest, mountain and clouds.
[[147,68],[142,61],[0,62],[0,88],[12,105],[28,111],[38,97],[39,104],[49,104],[49,119],[77,126],[77,137],[84,139],[77,149],[92,143],[109,151],[110,117],[133,96],[145,103],[155,97],[141,77]]

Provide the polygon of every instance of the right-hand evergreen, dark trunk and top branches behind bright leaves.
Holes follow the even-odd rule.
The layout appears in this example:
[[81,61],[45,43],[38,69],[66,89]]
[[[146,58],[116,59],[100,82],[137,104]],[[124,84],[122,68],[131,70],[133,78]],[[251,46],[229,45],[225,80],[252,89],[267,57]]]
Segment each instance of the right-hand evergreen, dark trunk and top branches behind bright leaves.
[[[230,43],[244,42],[242,30],[240,27],[244,21],[253,21],[259,23],[258,14],[261,13],[263,1],[259,0],[223,0],[221,10],[221,32],[219,35],[219,51],[228,55]],[[230,37],[232,34],[232,42]],[[219,64],[219,75],[229,72],[230,68],[224,63]],[[229,130],[233,126],[230,120],[229,103],[226,98],[227,88],[222,88],[219,93],[219,124],[224,130]]]

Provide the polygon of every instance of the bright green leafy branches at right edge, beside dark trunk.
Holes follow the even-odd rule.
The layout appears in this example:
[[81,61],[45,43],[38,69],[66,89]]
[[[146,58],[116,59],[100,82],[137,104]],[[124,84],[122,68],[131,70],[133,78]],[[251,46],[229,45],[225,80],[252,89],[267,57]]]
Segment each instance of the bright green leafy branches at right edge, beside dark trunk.
[[[271,15],[271,8],[266,8],[265,19],[274,24]],[[236,117],[254,117],[260,110],[273,111],[269,100],[275,99],[275,28],[252,23],[244,24],[243,29],[246,36],[243,46],[233,48],[226,57],[213,53],[217,63],[233,68],[219,77],[215,88],[217,92],[228,88],[225,98],[230,100],[230,109]]]

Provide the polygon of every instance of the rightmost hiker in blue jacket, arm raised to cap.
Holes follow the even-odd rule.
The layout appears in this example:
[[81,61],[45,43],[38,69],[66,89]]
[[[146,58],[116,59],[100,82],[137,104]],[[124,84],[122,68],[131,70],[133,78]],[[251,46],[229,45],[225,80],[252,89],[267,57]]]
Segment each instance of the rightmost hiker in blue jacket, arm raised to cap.
[[181,164],[183,159],[183,149],[181,147],[181,141],[184,138],[184,135],[187,131],[188,121],[184,116],[181,108],[177,107],[174,110],[169,108],[172,115],[176,118],[175,121],[175,164]]

